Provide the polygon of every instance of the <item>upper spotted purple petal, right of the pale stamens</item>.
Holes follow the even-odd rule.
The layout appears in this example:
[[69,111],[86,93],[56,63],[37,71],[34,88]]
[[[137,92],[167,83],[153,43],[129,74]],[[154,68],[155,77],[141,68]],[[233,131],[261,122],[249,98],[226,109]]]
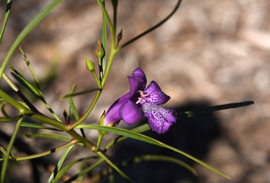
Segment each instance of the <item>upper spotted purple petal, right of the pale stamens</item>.
[[162,92],[160,86],[155,81],[151,81],[143,93],[147,94],[147,96],[142,98],[150,104],[165,104],[170,99],[168,95]]

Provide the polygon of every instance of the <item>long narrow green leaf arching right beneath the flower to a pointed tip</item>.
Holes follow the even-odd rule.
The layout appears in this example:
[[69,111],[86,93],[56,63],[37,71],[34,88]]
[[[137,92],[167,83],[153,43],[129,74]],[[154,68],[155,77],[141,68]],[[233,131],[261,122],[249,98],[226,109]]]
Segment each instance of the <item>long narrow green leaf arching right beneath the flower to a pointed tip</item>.
[[229,175],[226,175],[224,174],[223,172],[217,170],[216,168],[213,168],[212,166],[210,165],[207,165],[207,163],[204,163],[203,161],[200,161],[199,159],[185,153],[184,151],[181,151],[179,149],[176,149],[174,147],[171,147],[167,144],[164,144],[158,140],[155,140],[151,137],[148,137],[146,135],[142,135],[140,133],[135,133],[131,130],[124,130],[124,129],[121,129],[121,128],[114,128],[114,127],[108,127],[108,126],[95,126],[95,125],[79,125],[77,126],[77,128],[89,128],[89,129],[94,129],[94,130],[103,130],[105,132],[108,132],[108,133],[115,133],[117,135],[123,135],[123,136],[127,136],[127,137],[131,137],[135,140],[140,140],[140,141],[143,141],[143,142],[147,142],[148,144],[154,144],[156,146],[159,146],[159,147],[164,147],[164,148],[167,148],[167,149],[171,149],[172,151],[176,151],[177,153],[179,154],[182,154],[184,156],[186,156],[187,158],[190,158],[192,159],[193,161],[199,163],[200,165],[203,165],[205,168],[211,170],[212,172],[215,172],[223,177],[226,177],[227,179],[231,179],[231,177],[229,177]]

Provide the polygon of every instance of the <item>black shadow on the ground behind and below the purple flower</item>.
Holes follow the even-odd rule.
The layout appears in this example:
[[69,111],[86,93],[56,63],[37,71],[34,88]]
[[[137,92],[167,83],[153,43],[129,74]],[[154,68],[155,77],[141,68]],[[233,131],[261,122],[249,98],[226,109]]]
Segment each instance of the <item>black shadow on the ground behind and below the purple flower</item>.
[[[191,111],[212,106],[209,102],[199,101],[190,102],[183,106],[176,107],[178,113],[183,111]],[[147,118],[141,121],[141,124],[147,123]],[[220,126],[217,116],[213,113],[200,114],[191,118],[179,118],[176,124],[165,134],[159,135],[154,131],[144,133],[149,137],[153,137],[160,142],[169,144],[184,151],[195,158],[203,160],[207,156],[210,143],[220,136]],[[132,139],[127,139],[116,144],[113,149],[114,161],[119,163],[134,156],[142,154],[161,154],[172,156],[185,161],[193,166],[194,161],[176,154],[174,151],[156,147],[155,145],[146,144]],[[174,163],[161,161],[148,161],[136,163],[122,168],[136,182],[199,182],[198,177],[191,172]],[[115,182],[125,182],[117,172],[114,173]],[[108,182],[104,179],[103,182]]]

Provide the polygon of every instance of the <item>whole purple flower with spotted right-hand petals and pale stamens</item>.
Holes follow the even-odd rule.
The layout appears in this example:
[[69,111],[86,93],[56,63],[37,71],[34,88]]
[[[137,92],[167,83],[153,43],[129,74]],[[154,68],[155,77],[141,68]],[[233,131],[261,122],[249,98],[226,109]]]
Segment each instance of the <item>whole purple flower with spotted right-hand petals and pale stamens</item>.
[[176,111],[166,109],[169,96],[162,92],[158,83],[151,81],[146,88],[146,75],[137,68],[132,76],[128,76],[130,91],[116,100],[105,114],[105,126],[123,120],[128,125],[134,124],[146,116],[150,128],[157,133],[165,133],[172,123],[176,122]]

